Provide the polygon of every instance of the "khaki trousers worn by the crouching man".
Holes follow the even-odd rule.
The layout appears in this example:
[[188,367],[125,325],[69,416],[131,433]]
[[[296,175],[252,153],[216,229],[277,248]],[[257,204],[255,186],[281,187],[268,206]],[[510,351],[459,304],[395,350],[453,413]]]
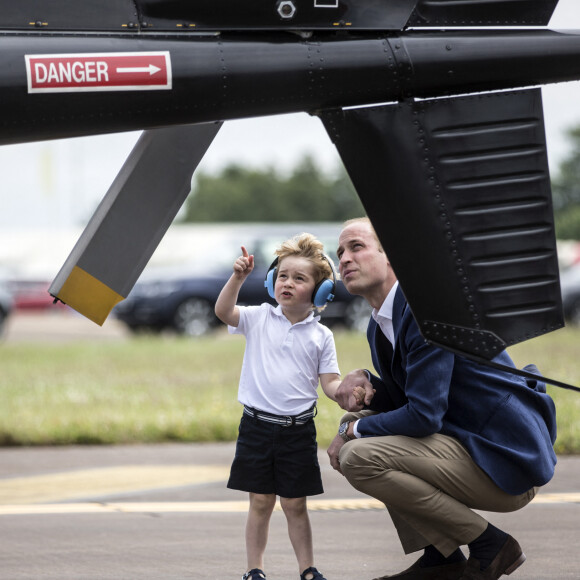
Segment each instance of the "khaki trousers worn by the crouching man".
[[[364,414],[347,413],[343,421]],[[515,511],[537,491],[506,493],[459,441],[440,434],[355,439],[343,445],[339,461],[354,488],[385,504],[406,554],[433,545],[449,556],[485,531],[488,522],[474,509]]]

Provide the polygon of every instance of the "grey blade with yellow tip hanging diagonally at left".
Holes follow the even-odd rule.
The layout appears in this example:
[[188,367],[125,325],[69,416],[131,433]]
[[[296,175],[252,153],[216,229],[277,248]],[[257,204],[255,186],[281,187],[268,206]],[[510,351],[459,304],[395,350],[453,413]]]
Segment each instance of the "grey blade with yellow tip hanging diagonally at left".
[[221,123],[144,131],[49,292],[97,324],[127,297]]

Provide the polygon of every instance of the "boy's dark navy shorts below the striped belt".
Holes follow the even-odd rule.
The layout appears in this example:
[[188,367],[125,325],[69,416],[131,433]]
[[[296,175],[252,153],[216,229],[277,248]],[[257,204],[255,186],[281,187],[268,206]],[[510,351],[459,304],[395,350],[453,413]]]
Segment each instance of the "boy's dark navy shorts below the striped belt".
[[242,416],[228,487],[280,497],[323,493],[316,426],[284,427]]

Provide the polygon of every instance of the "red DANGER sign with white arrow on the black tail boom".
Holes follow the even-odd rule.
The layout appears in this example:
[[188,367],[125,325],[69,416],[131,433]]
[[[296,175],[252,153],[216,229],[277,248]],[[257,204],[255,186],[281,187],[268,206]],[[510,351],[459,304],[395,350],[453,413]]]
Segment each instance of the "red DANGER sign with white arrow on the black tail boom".
[[171,89],[169,52],[24,56],[29,93]]

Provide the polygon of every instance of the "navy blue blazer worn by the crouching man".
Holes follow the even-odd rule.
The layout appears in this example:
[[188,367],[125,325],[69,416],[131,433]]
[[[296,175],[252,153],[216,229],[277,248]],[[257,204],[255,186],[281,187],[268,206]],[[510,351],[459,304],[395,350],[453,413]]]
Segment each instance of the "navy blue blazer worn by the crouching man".
[[[427,344],[399,287],[393,304],[394,350],[371,318],[367,338],[380,411],[361,419],[363,437],[442,433],[458,439],[507,493],[518,495],[554,474],[556,410],[541,381],[471,362]],[[495,361],[514,366],[507,352]]]

